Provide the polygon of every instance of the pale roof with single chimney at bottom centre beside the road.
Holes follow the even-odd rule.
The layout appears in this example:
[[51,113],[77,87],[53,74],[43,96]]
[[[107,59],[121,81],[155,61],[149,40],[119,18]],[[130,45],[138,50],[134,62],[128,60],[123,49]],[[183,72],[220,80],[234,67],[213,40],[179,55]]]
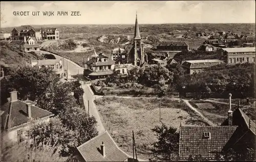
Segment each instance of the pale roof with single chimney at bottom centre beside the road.
[[[100,153],[100,145],[104,143],[105,157]],[[97,135],[90,141],[77,147],[86,161],[124,161],[128,156],[118,148],[108,131]]]

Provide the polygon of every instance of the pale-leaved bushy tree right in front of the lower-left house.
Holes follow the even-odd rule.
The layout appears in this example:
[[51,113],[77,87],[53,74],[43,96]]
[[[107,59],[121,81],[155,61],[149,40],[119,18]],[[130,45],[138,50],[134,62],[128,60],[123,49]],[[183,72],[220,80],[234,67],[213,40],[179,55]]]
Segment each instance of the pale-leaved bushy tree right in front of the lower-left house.
[[75,151],[78,146],[77,132],[65,127],[59,118],[51,118],[50,122],[33,123],[30,128],[30,137],[36,145],[60,146],[61,155],[67,156]]

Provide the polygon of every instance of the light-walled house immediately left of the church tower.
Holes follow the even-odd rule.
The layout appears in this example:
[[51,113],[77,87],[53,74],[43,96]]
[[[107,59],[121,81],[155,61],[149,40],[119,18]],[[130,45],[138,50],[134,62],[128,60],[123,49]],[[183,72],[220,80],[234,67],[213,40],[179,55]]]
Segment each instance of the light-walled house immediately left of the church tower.
[[117,62],[120,62],[121,64],[123,63],[128,63],[129,58],[126,50],[122,48],[115,48],[111,52],[111,59]]

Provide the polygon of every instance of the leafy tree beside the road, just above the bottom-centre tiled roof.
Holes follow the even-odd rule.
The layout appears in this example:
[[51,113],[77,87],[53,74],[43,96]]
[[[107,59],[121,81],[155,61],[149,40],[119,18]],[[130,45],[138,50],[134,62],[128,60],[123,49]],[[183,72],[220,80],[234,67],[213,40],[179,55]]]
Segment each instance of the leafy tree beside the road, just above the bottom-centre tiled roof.
[[67,108],[67,111],[60,113],[59,117],[69,129],[77,131],[79,145],[98,135],[95,117],[91,117],[84,109]]

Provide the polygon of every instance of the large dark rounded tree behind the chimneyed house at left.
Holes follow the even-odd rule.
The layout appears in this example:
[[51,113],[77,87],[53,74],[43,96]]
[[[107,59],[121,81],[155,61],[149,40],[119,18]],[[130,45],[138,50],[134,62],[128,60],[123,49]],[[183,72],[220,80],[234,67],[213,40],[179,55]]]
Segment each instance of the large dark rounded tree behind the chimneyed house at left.
[[18,90],[19,99],[34,101],[45,94],[50,85],[56,84],[59,78],[51,68],[24,66],[13,73],[9,81],[10,88]]

